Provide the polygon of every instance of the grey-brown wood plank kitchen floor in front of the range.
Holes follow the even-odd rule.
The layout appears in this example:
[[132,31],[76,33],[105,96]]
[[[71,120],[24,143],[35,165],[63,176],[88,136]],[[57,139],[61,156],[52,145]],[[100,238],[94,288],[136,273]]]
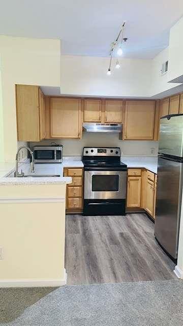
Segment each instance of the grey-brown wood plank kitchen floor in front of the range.
[[146,214],[66,218],[67,284],[176,279]]

